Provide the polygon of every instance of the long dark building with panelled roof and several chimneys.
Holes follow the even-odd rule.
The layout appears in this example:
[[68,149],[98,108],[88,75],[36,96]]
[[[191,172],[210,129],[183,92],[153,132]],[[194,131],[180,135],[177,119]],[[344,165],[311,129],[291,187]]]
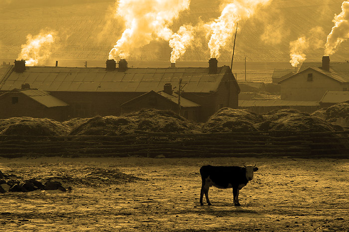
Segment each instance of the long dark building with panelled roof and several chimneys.
[[152,90],[160,92],[165,84],[178,94],[181,80],[181,97],[200,105],[197,121],[205,121],[222,107],[238,107],[236,79],[229,66],[217,63],[212,58],[208,67],[129,68],[121,59],[118,67],[115,60],[107,60],[104,68],[80,68],[26,67],[24,60],[17,60],[0,76],[0,93],[28,83],[67,103],[71,118],[117,116],[123,103]]

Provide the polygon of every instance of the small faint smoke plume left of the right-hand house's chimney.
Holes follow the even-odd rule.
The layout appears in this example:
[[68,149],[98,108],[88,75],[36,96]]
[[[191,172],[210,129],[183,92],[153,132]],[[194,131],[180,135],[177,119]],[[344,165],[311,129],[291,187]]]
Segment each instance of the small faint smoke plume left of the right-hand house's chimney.
[[290,63],[293,67],[297,67],[298,64],[304,62],[306,58],[306,54],[304,51],[309,47],[309,40],[303,36],[298,39],[290,42]]

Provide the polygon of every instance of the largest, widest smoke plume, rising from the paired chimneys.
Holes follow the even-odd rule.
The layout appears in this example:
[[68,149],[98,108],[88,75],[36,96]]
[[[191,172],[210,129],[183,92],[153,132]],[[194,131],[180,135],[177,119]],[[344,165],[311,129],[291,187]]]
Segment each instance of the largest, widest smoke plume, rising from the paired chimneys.
[[127,58],[135,48],[149,44],[153,39],[169,41],[169,28],[180,11],[189,7],[190,0],[119,0],[117,15],[124,18],[126,29],[109,59]]

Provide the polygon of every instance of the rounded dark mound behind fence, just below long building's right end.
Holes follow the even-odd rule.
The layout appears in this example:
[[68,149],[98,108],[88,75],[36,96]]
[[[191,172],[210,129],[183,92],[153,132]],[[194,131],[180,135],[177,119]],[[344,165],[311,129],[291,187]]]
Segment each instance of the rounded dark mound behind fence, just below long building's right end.
[[249,110],[222,108],[202,126],[203,133],[257,131],[263,117]]

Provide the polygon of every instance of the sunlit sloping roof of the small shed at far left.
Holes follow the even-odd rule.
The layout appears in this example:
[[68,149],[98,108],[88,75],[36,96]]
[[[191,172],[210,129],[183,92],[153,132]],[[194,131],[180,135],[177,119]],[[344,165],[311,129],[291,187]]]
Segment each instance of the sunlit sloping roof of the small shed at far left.
[[19,93],[25,94],[26,96],[32,98],[33,100],[37,101],[38,103],[46,107],[68,106],[68,104],[65,103],[64,101],[59,100],[58,98],[52,96],[50,93],[43,90],[13,89],[10,92],[19,92]]

